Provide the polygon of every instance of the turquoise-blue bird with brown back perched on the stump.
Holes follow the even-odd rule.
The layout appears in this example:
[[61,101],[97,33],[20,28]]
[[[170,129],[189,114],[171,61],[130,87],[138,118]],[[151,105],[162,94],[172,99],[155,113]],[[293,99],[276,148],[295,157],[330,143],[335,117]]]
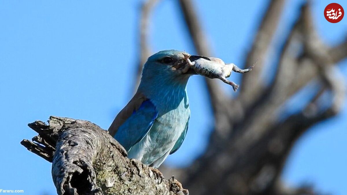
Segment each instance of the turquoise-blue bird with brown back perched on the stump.
[[[203,56],[190,56],[194,61]],[[136,94],[112,122],[109,133],[125,148],[128,158],[158,168],[176,152],[188,130],[190,117],[186,91],[196,74],[184,68],[183,52],[164,50],[148,58]]]

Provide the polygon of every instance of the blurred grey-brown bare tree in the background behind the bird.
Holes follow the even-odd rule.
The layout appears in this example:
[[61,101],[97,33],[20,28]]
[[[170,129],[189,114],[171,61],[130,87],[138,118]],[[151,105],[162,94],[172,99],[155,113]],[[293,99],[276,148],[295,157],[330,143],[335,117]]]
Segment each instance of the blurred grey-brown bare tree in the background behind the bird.
[[[146,3],[153,6],[151,2]],[[265,85],[261,74],[284,5],[285,0],[269,1],[244,67],[259,61],[242,75],[244,87],[237,97],[227,96],[218,81],[205,78],[215,126],[204,154],[187,168],[161,167],[164,175],[175,175],[192,194],[314,194],[310,187],[285,188],[280,173],[296,140],[342,108],[345,82],[335,64],[346,58],[347,41],[333,48],[325,45],[314,27],[310,4],[305,3],[283,40],[273,81]],[[191,0],[179,0],[179,6],[197,53],[211,56],[197,6]],[[150,18],[145,20],[149,23]],[[148,31],[148,26],[142,27]],[[149,43],[141,43],[147,44],[140,51],[141,59],[146,59]],[[305,107],[286,113],[283,105],[308,84],[315,87],[308,88],[311,96]]]

